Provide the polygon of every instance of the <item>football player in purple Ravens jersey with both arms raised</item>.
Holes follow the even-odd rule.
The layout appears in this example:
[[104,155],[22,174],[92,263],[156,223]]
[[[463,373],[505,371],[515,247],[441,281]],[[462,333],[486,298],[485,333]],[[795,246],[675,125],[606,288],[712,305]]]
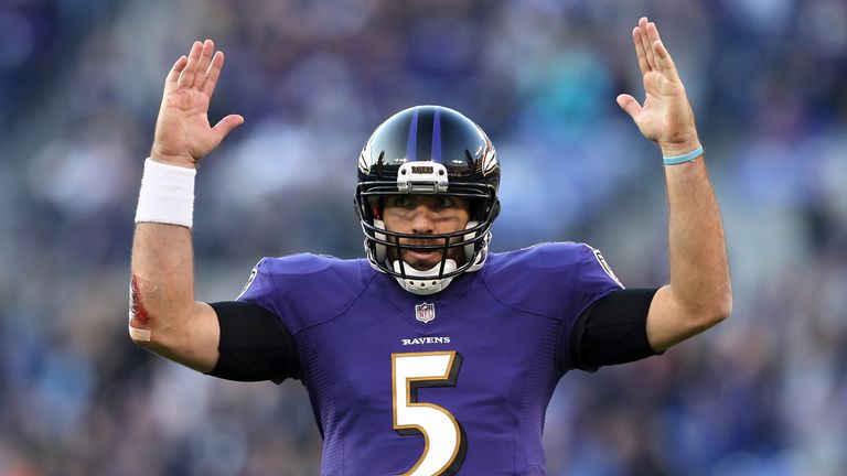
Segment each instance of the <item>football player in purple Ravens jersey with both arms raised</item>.
[[300,380],[323,436],[322,474],[544,474],[545,410],[568,370],[662,353],[730,313],[723,231],[685,89],[655,24],[641,19],[632,39],[646,98],[618,102],[664,155],[668,284],[626,290],[582,244],[491,252],[494,145],[460,112],[418,106],[378,126],[358,159],[366,259],[265,258],[235,301],[195,302],[195,167],[244,121],[207,121],[224,56],[206,40],[168,75],[144,165],[132,339],[226,379]]

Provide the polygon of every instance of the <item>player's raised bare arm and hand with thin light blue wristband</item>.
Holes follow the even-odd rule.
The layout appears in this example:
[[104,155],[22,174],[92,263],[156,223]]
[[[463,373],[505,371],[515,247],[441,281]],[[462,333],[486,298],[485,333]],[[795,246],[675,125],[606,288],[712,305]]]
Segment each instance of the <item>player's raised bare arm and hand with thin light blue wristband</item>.
[[[654,23],[642,18],[632,33],[646,99],[630,95],[618,104],[665,158],[700,147],[694,113],[671,55]],[[669,207],[671,282],[653,298],[646,333],[656,351],[729,316],[732,292],[723,227],[705,158],[665,166]]]

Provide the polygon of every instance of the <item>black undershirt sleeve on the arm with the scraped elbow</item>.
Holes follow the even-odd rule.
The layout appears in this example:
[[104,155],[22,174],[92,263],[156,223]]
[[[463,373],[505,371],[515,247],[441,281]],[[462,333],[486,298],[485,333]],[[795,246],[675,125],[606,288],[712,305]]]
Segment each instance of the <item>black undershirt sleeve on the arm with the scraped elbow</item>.
[[208,375],[227,380],[280,383],[300,378],[294,337],[265,307],[240,301],[210,303],[221,325],[217,364]]

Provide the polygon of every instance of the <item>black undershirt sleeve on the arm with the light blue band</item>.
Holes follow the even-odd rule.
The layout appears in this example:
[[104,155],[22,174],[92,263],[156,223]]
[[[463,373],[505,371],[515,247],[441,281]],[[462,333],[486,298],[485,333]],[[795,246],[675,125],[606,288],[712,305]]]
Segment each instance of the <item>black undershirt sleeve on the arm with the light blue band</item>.
[[647,340],[647,312],[656,291],[614,291],[587,309],[570,334],[572,367],[596,371],[656,355]]

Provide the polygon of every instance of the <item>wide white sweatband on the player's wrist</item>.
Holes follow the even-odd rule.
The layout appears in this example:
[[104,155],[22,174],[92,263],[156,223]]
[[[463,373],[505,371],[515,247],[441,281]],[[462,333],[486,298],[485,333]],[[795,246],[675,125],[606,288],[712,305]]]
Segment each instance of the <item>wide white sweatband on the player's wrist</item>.
[[136,223],[152,221],[191,228],[194,220],[195,169],[169,165],[147,159]]

